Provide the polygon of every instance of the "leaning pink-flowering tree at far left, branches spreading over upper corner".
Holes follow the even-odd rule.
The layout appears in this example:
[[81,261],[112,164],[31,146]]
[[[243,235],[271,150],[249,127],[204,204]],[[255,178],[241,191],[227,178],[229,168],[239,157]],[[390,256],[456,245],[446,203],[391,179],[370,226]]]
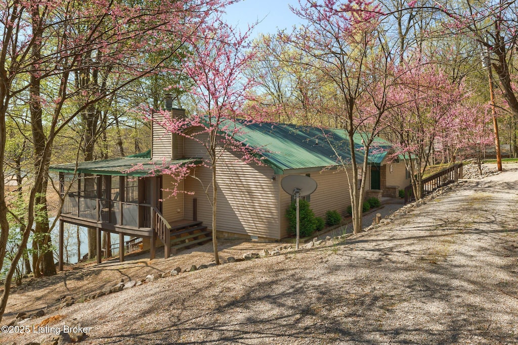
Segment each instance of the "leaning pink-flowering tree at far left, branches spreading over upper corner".
[[[73,119],[94,104],[160,68],[195,35],[208,16],[231,0],[166,0],[133,6],[124,1],[63,0],[0,1],[0,178],[5,181],[6,116],[15,106],[30,104],[36,162],[26,197],[27,212],[17,216],[0,189],[0,266],[4,264],[10,214],[23,227],[19,250],[13,255],[0,301],[0,321],[12,275],[26,246],[35,214],[45,198],[48,165],[54,139]],[[154,64],[140,56],[154,49],[169,54]],[[84,73],[85,69],[88,73]],[[84,78],[110,69],[116,79],[102,79],[100,88]],[[116,80],[116,82],[112,82]],[[42,85],[48,85],[41,92]],[[28,94],[28,96],[27,96]],[[45,124],[45,130],[42,125]],[[46,232],[47,230],[44,229]],[[47,236],[47,238],[50,238]],[[46,241],[49,241],[48,239]],[[47,242],[48,243],[48,242]]]

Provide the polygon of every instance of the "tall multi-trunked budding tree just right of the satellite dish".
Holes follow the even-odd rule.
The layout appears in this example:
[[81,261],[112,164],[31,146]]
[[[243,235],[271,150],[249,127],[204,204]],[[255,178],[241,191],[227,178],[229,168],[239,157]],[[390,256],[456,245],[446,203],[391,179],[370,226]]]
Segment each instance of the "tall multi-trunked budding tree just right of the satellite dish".
[[[306,1],[292,11],[307,25],[292,36],[281,38],[308,56],[304,62],[318,75],[326,97],[311,99],[313,111],[328,114],[346,129],[351,159],[336,157],[346,171],[350,186],[353,231],[362,231],[363,200],[368,161],[380,119],[387,107],[393,83],[393,59],[381,32],[379,9],[372,2],[355,0],[323,3]],[[362,132],[363,148],[357,149],[355,135]],[[359,167],[362,167],[359,169]],[[361,180],[360,188],[356,188]]]

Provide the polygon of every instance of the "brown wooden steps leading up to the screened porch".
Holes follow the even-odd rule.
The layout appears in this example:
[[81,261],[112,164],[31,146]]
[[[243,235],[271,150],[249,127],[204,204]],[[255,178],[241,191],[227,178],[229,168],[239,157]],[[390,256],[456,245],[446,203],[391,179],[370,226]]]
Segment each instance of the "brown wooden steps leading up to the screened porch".
[[212,241],[212,232],[202,225],[200,221],[172,226],[171,233],[171,254],[176,254],[180,249],[191,248],[194,245],[202,245]]

